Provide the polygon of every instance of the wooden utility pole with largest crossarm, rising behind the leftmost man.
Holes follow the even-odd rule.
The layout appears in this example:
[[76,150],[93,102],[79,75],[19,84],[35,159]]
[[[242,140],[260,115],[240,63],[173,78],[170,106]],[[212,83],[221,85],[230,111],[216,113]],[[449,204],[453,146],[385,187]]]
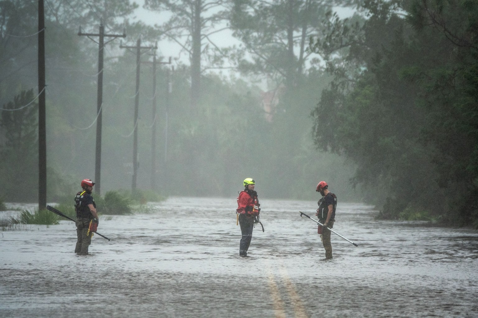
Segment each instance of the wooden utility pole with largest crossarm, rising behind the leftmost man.
[[[99,33],[82,33],[81,27],[78,31],[78,35],[87,36],[90,40],[98,43],[98,93],[97,93],[97,114],[96,121],[96,155],[95,155],[95,192],[98,195],[101,194],[101,122],[102,122],[102,106],[103,106],[103,56],[104,46],[115,38],[125,38],[126,29],[123,29],[123,34],[105,34],[105,27],[103,21],[99,23]],[[90,38],[91,36],[98,36],[98,42]],[[105,37],[113,38],[104,43]]]

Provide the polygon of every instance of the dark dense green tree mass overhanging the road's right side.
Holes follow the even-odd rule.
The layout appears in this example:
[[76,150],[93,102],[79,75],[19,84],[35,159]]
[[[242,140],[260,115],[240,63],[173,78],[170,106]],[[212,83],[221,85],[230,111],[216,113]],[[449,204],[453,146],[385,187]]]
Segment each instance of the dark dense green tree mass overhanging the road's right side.
[[469,224],[477,207],[476,4],[369,0],[361,9],[365,21],[331,21],[337,36],[313,43],[335,74],[313,112],[315,144],[357,163],[354,181],[375,190],[382,215],[428,211]]

